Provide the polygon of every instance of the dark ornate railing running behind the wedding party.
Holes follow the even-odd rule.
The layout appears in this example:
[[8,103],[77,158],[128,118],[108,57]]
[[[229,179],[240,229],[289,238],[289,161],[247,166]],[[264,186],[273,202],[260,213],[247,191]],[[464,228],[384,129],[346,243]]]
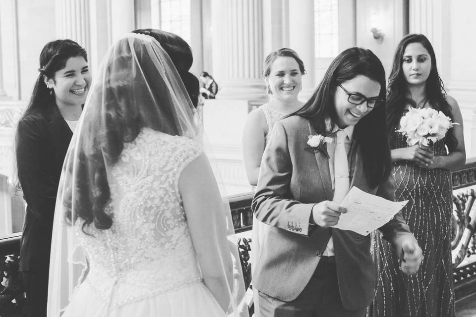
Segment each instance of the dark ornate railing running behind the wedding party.
[[[476,159],[469,160],[465,167],[454,171],[453,189],[453,241],[454,270],[456,299],[476,293],[476,207],[474,207],[476,185]],[[468,190],[465,192],[465,189]],[[239,234],[251,230],[252,193],[230,197],[233,225]],[[243,267],[245,286],[251,282],[251,264],[249,253],[251,239],[241,237],[238,241],[239,256]],[[24,309],[24,295],[18,276],[18,253],[20,250],[20,234],[12,234],[0,238],[0,276],[3,272],[6,283],[0,285],[0,316],[20,316]],[[472,260],[475,259],[475,260]]]

